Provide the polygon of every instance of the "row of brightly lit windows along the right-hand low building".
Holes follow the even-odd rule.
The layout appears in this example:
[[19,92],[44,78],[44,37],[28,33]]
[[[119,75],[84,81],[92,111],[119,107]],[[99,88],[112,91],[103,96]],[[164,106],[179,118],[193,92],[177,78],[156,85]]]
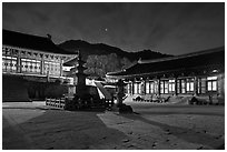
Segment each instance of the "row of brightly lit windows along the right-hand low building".
[[[140,94],[142,91],[144,82],[128,83],[126,93]],[[217,91],[217,77],[199,78],[197,82],[197,93],[206,93],[206,91]],[[177,80],[177,90],[175,80],[161,80],[160,93],[193,93],[195,91],[195,79],[180,79]],[[145,93],[158,93],[158,82],[145,82]]]

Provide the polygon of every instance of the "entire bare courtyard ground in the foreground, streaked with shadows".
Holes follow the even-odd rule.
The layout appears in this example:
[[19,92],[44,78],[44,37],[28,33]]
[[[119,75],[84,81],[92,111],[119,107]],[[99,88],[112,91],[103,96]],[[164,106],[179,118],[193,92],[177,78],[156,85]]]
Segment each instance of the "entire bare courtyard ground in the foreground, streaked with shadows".
[[3,103],[2,149],[224,149],[225,107],[127,104],[134,114]]

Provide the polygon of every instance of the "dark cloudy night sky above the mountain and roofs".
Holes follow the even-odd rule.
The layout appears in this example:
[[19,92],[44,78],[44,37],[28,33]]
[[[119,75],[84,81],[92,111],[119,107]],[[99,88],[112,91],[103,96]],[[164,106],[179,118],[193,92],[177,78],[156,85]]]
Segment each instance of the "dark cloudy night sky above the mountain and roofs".
[[225,3],[3,3],[3,29],[125,51],[182,54],[225,44]]

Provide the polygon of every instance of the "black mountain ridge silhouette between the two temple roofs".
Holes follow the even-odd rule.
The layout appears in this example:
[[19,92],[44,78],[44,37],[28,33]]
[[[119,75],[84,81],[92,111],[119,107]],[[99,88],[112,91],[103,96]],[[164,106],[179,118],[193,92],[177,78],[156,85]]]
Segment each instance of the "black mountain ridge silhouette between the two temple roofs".
[[162,54],[160,52],[154,52],[150,50],[144,50],[139,52],[126,52],[117,47],[111,47],[103,43],[92,44],[82,40],[69,40],[58,45],[68,52],[76,52],[79,50],[83,57],[83,60],[86,60],[88,55],[91,55],[91,54],[103,55],[103,54],[110,54],[110,53],[116,53],[119,58],[127,58],[130,61],[135,61],[139,59],[150,60],[150,59],[170,57],[169,54]]

